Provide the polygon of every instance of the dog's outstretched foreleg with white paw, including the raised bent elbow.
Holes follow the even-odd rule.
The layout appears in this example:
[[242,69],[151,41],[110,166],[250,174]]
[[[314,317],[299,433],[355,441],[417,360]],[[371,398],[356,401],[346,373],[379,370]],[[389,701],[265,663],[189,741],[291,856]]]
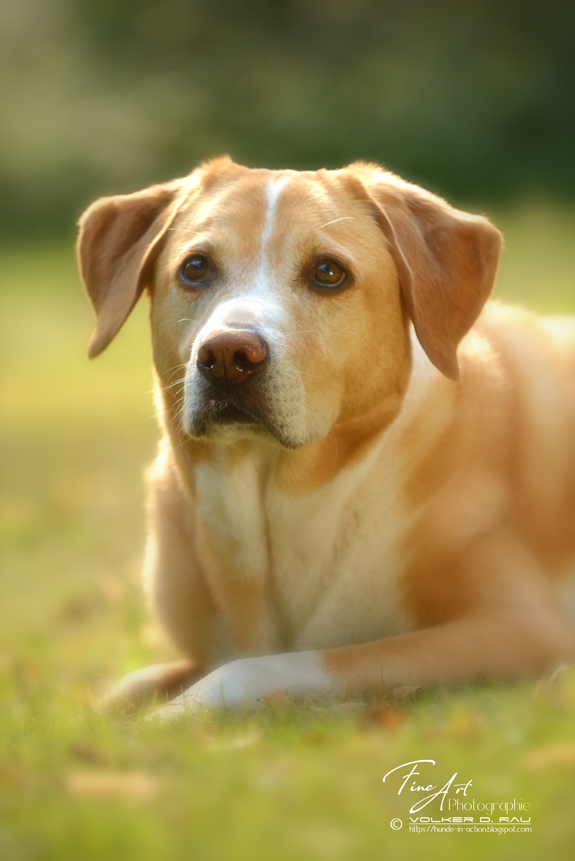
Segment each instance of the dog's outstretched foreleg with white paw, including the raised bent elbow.
[[[484,567],[494,559],[498,568]],[[506,679],[575,659],[575,632],[521,542],[482,539],[467,549],[460,573],[470,609],[457,618],[371,643],[233,661],[158,714],[265,704],[277,690],[319,699],[481,675]]]

